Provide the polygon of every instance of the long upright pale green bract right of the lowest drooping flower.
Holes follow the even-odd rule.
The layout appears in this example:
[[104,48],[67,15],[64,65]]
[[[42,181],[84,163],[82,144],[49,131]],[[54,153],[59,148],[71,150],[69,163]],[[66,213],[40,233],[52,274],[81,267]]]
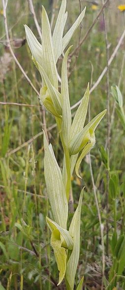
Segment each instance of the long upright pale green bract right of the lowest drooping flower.
[[69,233],[73,237],[73,249],[71,255],[66,264],[66,283],[70,286],[70,290],[73,290],[74,280],[76,269],[79,261],[79,253],[80,253],[80,217],[81,217],[81,207],[82,207],[82,199],[83,199],[83,190],[80,194],[78,207],[73,215]]

